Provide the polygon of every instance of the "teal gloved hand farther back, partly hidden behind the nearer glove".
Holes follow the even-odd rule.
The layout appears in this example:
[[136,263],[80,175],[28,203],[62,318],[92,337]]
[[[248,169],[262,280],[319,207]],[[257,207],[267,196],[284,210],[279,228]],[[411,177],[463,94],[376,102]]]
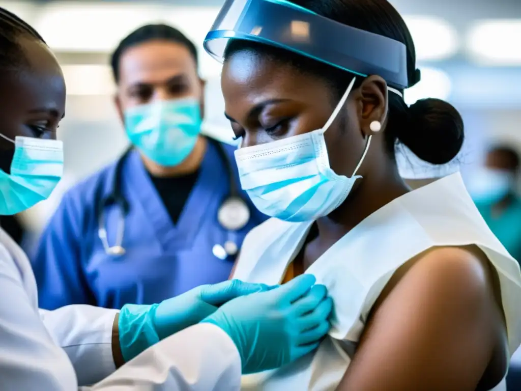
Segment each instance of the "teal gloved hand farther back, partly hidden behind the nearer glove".
[[230,280],[202,285],[152,306],[126,304],[119,313],[119,344],[125,361],[182,329],[201,322],[219,306],[243,295],[271,289]]

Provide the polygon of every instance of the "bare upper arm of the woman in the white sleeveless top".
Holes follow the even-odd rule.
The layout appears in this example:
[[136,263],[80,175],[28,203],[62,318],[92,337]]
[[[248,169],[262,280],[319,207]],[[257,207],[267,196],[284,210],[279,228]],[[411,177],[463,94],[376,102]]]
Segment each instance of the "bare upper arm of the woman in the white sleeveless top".
[[338,389],[476,389],[504,328],[487,266],[457,248],[421,256],[371,314]]

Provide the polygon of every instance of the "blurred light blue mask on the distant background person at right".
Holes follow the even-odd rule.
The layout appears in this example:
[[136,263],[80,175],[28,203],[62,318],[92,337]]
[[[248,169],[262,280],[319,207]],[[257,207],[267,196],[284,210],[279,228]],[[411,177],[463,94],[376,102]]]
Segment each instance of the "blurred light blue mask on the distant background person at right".
[[474,202],[494,204],[508,195],[514,180],[509,171],[480,167],[469,175],[465,185]]

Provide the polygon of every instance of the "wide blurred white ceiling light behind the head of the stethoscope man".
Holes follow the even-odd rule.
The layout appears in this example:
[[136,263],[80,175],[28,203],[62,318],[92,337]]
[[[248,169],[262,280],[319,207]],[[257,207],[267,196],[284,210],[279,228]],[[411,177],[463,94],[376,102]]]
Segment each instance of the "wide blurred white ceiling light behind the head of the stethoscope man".
[[219,7],[58,2],[42,8],[35,28],[55,51],[111,53],[136,28],[167,23],[196,44],[202,76],[213,77],[220,75],[222,64],[206,55],[203,41],[218,13]]

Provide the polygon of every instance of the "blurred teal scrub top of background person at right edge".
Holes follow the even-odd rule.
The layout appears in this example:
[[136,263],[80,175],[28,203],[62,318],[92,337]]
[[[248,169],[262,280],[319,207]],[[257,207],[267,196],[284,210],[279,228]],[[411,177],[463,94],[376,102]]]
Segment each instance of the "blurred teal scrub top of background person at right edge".
[[492,233],[499,239],[517,262],[521,262],[521,200],[514,198],[512,204],[500,216],[494,216],[492,205],[476,203]]

